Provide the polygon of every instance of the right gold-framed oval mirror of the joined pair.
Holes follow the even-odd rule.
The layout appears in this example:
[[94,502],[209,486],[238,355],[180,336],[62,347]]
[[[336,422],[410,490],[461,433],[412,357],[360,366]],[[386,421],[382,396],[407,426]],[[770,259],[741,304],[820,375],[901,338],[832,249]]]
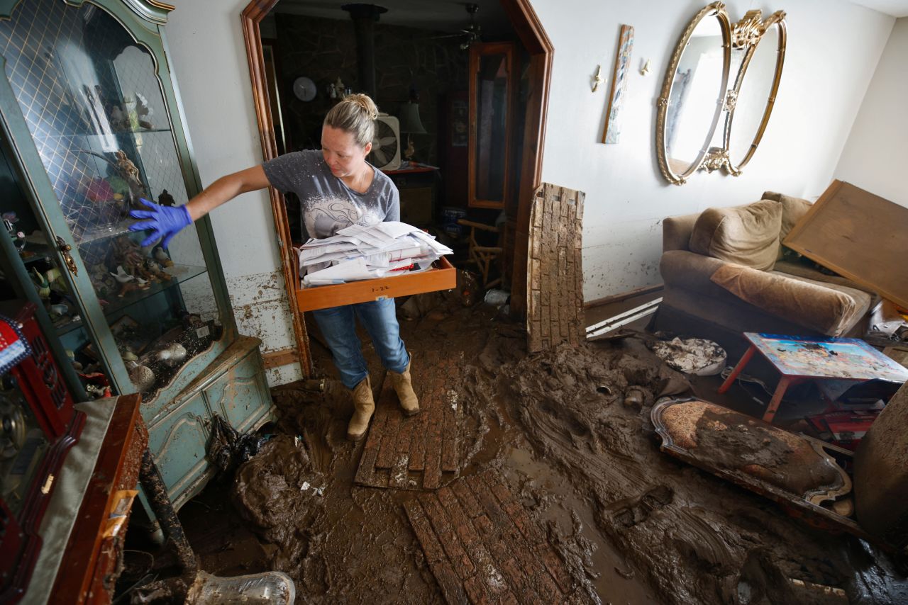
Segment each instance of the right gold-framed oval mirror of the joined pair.
[[[725,114],[725,171],[735,176],[754,157],[773,112],[785,63],[785,12],[762,20],[749,11],[732,25],[732,71],[735,83]],[[736,68],[736,70],[735,70]]]

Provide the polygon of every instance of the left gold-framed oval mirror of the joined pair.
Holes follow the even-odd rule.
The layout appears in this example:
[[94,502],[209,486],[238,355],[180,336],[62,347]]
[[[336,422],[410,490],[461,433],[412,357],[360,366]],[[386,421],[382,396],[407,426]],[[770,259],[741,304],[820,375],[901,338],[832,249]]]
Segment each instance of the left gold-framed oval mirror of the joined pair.
[[666,68],[656,112],[656,155],[666,180],[681,185],[706,158],[725,109],[731,25],[725,5],[702,8],[687,24]]

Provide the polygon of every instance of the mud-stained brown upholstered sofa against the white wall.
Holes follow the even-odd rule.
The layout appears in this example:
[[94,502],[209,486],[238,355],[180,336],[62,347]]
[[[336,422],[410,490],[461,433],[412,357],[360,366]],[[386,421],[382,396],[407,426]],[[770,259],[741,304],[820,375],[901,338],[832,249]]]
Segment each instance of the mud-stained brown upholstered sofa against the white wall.
[[[753,204],[664,220],[665,291],[651,327],[709,337],[729,353],[740,350],[743,332],[863,334],[878,302],[872,291],[783,256],[781,240],[809,208],[767,191]],[[752,232],[762,235],[752,240]]]

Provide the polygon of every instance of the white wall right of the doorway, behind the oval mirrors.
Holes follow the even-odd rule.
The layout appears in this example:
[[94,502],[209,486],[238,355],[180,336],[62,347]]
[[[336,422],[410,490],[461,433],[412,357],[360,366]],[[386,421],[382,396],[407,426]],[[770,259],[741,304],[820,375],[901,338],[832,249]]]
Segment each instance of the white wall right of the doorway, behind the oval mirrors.
[[[727,2],[732,20],[755,8],[764,16],[779,9],[787,13],[785,70],[775,110],[740,177],[697,173],[679,187],[668,184],[656,164],[656,98],[679,35],[706,2],[532,0],[532,5],[555,47],[542,177],[587,193],[587,301],[661,281],[660,221],[666,216],[758,200],[764,190],[819,196],[834,178],[894,22],[844,0]],[[620,24],[635,28],[633,70],[620,113],[620,142],[603,145],[598,141]],[[643,76],[639,67],[647,58],[652,68]],[[609,81],[590,93],[598,64]]]

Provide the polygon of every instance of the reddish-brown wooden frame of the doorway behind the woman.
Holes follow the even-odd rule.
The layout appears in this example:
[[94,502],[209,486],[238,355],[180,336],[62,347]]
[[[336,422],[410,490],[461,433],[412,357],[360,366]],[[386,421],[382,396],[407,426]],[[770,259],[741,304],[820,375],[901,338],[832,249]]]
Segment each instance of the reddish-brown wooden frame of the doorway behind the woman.
[[[268,100],[268,86],[265,81],[265,64],[262,55],[262,34],[259,24],[280,0],[252,0],[243,9],[242,37],[246,44],[246,58],[249,61],[249,77],[252,81],[252,100],[262,142],[262,160],[277,157],[277,141],[274,135],[274,121]],[[514,266],[511,272],[511,311],[525,317],[527,311],[527,246],[529,241],[529,211],[532,207],[533,191],[542,179],[542,151],[546,139],[546,114],[548,112],[548,89],[551,83],[554,49],[545,29],[539,21],[530,0],[500,0],[508,19],[514,26],[520,42],[529,54],[529,96],[524,121],[523,150],[520,158],[520,183],[514,208],[508,214],[516,217],[514,223]],[[293,332],[296,336],[300,367],[305,376],[312,374],[309,335],[296,304],[296,258],[291,249],[290,224],[281,192],[269,189],[274,229],[281,249],[281,274],[287,288],[290,303]]]

